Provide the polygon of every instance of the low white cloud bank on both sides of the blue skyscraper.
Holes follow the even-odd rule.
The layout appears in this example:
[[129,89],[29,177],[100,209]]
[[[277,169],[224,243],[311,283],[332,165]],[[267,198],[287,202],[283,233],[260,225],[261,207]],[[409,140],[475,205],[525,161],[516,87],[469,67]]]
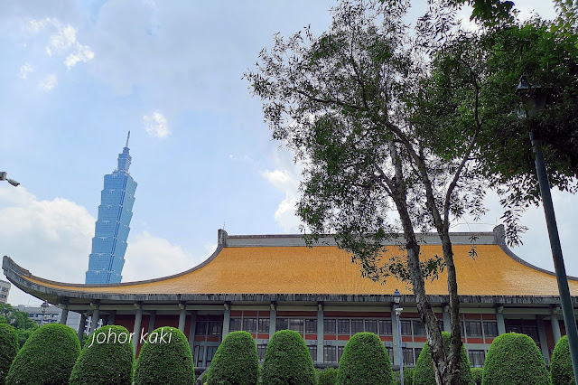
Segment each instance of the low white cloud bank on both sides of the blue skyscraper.
[[[75,202],[63,198],[38,200],[22,186],[0,186],[0,239],[2,255],[38,277],[84,283],[89,266],[96,219]],[[123,282],[164,277],[192,268],[217,249],[207,243],[194,257],[169,240],[148,232],[131,234],[126,249]],[[0,277],[3,278],[3,277]],[[40,304],[15,286],[8,301],[13,305]]]

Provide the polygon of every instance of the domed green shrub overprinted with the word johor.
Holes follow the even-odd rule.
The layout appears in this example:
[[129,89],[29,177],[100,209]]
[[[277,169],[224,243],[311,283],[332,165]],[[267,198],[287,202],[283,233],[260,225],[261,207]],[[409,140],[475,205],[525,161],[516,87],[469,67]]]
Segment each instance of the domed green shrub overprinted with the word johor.
[[129,335],[116,325],[92,333],[70,373],[70,385],[131,385],[134,352]]

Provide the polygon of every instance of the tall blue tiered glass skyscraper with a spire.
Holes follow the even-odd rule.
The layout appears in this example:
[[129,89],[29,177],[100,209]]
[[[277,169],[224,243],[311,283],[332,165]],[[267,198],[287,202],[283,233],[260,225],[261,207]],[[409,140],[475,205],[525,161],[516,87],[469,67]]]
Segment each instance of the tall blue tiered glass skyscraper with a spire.
[[100,193],[98,220],[92,252],[89,256],[87,284],[117,284],[122,280],[125,265],[126,239],[133,217],[136,182],[130,174],[131,156],[128,155],[128,139],[123,152],[118,155],[118,167],[105,175],[105,185]]

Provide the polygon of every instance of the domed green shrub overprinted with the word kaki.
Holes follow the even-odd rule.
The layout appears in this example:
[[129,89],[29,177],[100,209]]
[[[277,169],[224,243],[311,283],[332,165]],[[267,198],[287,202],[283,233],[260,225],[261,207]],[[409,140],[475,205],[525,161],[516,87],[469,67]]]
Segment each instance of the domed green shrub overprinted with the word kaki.
[[169,326],[154,329],[136,360],[135,385],[192,385],[194,382],[191,347],[184,334]]

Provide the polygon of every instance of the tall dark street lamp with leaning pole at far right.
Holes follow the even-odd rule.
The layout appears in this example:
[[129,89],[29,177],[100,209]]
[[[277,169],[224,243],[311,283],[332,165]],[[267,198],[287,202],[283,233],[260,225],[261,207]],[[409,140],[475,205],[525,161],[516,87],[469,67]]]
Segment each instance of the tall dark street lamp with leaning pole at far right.
[[[527,111],[529,117],[537,117],[540,111],[545,108],[548,89],[543,89],[537,84],[531,84],[525,75],[522,75],[520,78],[520,82],[517,85],[517,93],[522,95],[529,103]],[[522,117],[525,117],[526,114],[524,113],[522,115]],[[560,292],[560,303],[562,305],[562,314],[564,315],[566,335],[568,337],[568,344],[570,345],[574,378],[578,379],[578,331],[576,330],[576,319],[574,317],[572,299],[570,298],[566,268],[564,268],[564,258],[562,257],[562,246],[560,246],[560,237],[558,236],[558,226],[556,225],[554,204],[550,193],[550,183],[548,182],[544,155],[542,154],[542,141],[536,136],[534,129],[530,131],[530,140],[532,141],[534,154],[536,155],[536,173],[540,185],[540,195],[542,195],[542,202],[544,203],[545,222],[548,227],[552,258],[554,258],[554,268],[558,281],[558,291]]]

